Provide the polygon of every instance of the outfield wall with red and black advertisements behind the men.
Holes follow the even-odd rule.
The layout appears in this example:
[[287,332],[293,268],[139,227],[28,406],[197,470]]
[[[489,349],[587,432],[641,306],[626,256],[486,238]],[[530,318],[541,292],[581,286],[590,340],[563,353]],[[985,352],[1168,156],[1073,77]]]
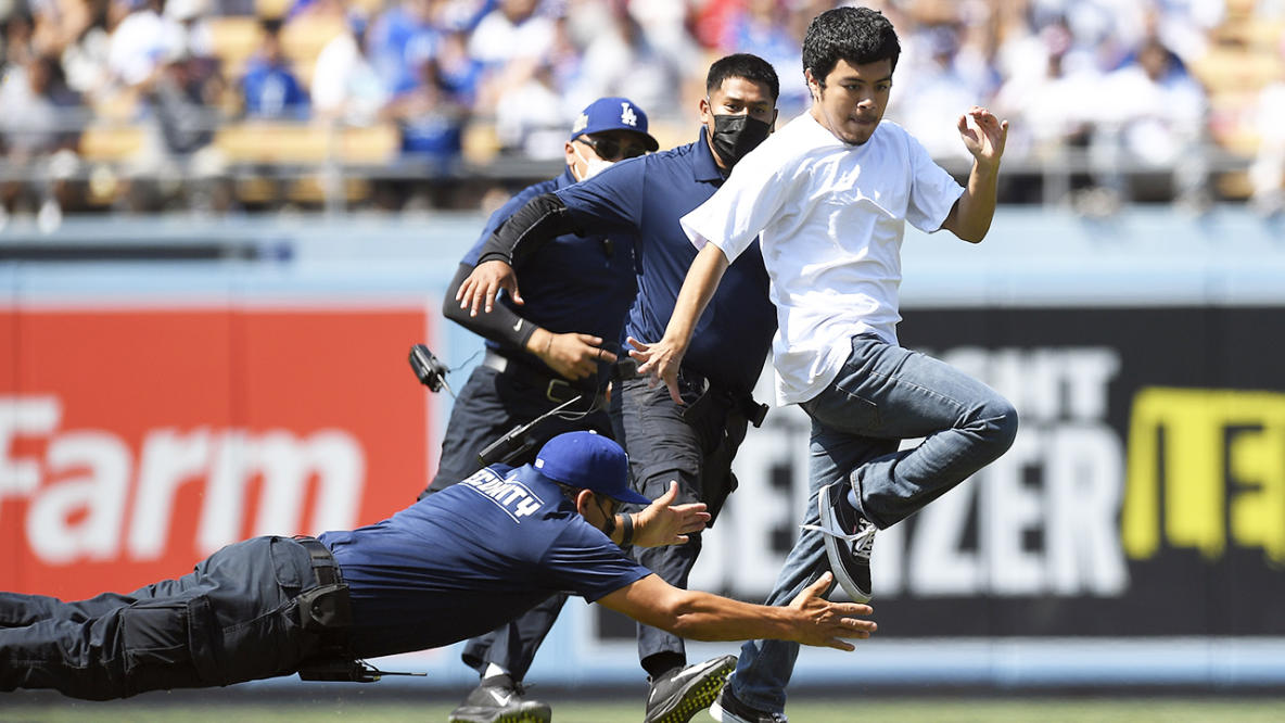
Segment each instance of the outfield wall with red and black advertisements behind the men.
[[[0,266],[0,539],[13,551],[0,589],[128,589],[235,539],[409,504],[436,470],[450,396],[415,383],[406,352],[428,341],[452,383],[477,362],[478,340],[439,322],[439,304],[478,228],[247,223],[204,229],[258,250],[235,261]],[[998,462],[880,531],[879,634],[857,654],[804,651],[795,682],[1285,684],[1277,238],[1232,211],[1144,210],[1108,224],[1004,210],[978,247],[908,233],[902,343],[1005,394],[1020,431]],[[771,381],[767,368],[759,399]],[[749,601],[771,589],[807,503],[807,439],[795,407],[750,430],[693,587]],[[456,647],[382,666],[429,677],[380,684],[473,677]],[[572,602],[529,679],[641,675],[634,624]]]

